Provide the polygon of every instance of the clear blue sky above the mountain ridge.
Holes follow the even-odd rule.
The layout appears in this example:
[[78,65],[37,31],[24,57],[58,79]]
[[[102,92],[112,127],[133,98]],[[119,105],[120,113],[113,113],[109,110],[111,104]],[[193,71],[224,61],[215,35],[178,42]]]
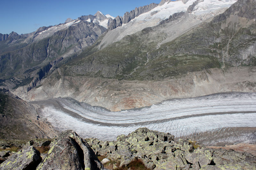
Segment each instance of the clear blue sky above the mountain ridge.
[[41,26],[64,23],[67,18],[94,15],[97,11],[113,17],[161,0],[1,0],[0,33],[31,33]]

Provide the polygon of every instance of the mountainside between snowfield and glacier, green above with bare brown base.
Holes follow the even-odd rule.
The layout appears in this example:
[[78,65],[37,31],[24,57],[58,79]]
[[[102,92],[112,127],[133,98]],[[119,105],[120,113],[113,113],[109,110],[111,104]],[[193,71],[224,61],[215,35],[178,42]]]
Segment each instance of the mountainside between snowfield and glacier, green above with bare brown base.
[[[20,88],[15,93],[26,100],[72,97],[118,111],[170,98],[255,92],[255,54],[250,46],[255,38],[255,21],[250,19],[255,17],[250,11],[254,4],[238,1],[224,14],[201,24],[188,11],[175,13],[160,25],[125,36],[101,50],[99,39],[76,59],[53,71],[38,88],[25,94]],[[239,16],[243,11],[248,11],[250,17]],[[187,23],[198,24],[183,28]],[[179,28],[185,33],[177,36],[175,29]],[[232,34],[233,28],[236,34]],[[239,41],[233,41],[236,36]],[[238,42],[234,44],[235,53],[230,52],[232,42]],[[241,60],[241,51],[251,55]]]

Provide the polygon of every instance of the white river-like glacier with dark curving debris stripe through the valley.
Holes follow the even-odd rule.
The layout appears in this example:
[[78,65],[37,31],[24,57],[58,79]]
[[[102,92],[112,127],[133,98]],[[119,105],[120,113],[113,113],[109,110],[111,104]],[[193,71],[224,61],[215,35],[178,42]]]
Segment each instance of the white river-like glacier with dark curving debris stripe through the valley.
[[82,137],[114,140],[140,127],[169,132],[176,137],[225,127],[256,127],[256,93],[175,99],[120,112],[66,99],[56,100],[71,112],[48,105],[42,109],[41,117],[59,130],[73,129]]

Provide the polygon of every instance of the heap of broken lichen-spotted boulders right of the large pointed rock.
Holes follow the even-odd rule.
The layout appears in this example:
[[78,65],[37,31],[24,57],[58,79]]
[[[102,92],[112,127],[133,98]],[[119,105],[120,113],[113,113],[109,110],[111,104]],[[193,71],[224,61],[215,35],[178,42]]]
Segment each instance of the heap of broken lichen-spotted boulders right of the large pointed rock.
[[[149,169],[253,169],[255,158],[233,150],[205,149],[193,140],[173,141],[172,135],[140,128],[117,141],[87,139],[96,154],[120,162],[125,167],[141,159]],[[221,161],[222,160],[222,161]],[[109,163],[105,163],[107,166]]]

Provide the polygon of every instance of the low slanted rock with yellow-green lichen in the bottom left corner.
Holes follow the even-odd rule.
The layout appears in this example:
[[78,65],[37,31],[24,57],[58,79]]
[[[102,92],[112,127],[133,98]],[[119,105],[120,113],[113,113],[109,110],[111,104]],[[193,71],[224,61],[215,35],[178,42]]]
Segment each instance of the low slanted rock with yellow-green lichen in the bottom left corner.
[[12,154],[6,161],[0,165],[0,170],[28,170],[36,169],[36,166],[42,160],[40,152],[33,146],[24,148],[19,152]]

